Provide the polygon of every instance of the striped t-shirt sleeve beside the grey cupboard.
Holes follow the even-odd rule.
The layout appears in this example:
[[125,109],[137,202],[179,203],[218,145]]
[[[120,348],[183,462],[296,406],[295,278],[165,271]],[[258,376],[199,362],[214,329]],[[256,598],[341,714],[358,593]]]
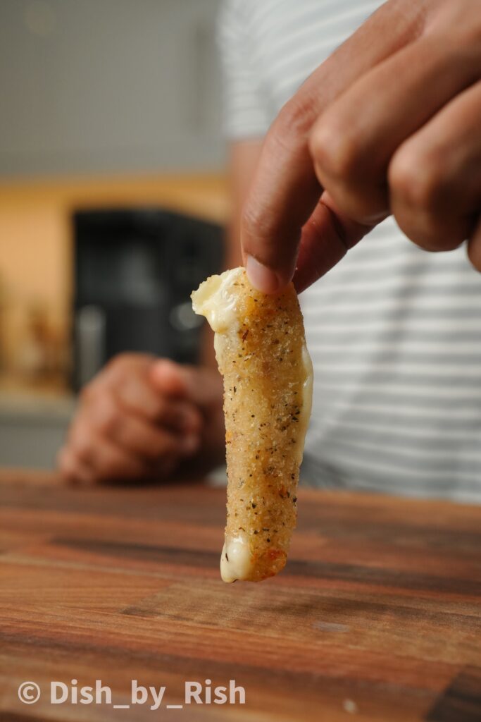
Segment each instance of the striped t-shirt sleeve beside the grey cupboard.
[[226,0],[219,13],[217,37],[224,93],[224,135],[229,140],[262,137],[270,118],[262,103],[262,89],[252,61],[245,4]]

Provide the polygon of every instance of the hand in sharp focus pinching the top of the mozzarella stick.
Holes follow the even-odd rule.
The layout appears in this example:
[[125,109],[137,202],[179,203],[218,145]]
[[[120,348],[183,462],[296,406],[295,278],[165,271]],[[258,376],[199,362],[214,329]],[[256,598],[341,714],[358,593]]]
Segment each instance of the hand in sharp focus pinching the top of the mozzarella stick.
[[[394,214],[481,270],[480,0],[390,0],[271,126],[244,206],[251,282],[298,290]],[[298,258],[299,252],[299,258]]]

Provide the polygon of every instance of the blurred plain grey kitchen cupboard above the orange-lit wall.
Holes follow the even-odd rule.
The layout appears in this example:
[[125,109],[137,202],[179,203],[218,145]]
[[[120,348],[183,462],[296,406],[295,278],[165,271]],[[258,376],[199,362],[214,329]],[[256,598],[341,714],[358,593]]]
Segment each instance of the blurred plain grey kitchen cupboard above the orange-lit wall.
[[1,0],[0,179],[224,165],[219,0]]

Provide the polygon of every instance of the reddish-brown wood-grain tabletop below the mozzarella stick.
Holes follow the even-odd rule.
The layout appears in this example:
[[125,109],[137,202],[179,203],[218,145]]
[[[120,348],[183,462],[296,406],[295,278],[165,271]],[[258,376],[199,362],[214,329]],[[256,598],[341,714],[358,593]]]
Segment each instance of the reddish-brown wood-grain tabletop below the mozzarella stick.
[[[233,585],[224,513],[202,484],[1,474],[1,722],[481,720],[480,507],[301,491],[286,570]],[[72,679],[112,705],[51,704]],[[166,687],[158,710],[113,707],[132,679]],[[245,704],[183,704],[206,679]]]

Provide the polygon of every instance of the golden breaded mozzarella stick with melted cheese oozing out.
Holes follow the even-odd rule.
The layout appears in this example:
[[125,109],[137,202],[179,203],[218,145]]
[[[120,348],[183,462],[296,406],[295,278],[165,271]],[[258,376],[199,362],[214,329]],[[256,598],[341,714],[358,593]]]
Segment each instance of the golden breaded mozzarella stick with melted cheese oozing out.
[[312,363],[294,286],[255,290],[243,268],[192,294],[224,376],[227,525],[221,576],[260,581],[286,564],[311,414]]

